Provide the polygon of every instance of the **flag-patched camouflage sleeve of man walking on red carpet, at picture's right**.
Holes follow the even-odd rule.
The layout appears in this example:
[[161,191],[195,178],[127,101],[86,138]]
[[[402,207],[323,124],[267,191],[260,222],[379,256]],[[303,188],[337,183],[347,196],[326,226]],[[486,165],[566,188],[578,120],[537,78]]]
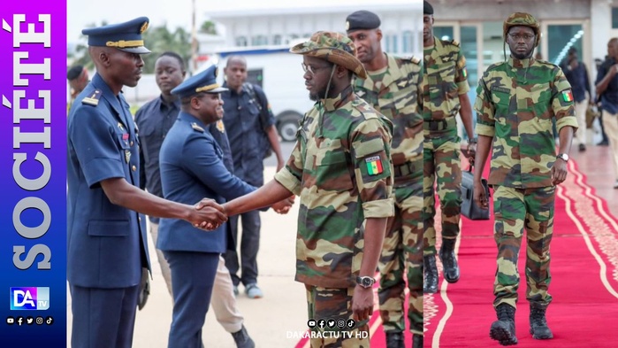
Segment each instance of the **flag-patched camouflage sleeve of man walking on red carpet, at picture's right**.
[[555,74],[553,79],[552,89],[552,110],[556,118],[556,129],[560,133],[561,128],[570,126],[575,132],[577,130],[577,119],[573,91],[562,70],[558,67],[556,69],[558,73]]

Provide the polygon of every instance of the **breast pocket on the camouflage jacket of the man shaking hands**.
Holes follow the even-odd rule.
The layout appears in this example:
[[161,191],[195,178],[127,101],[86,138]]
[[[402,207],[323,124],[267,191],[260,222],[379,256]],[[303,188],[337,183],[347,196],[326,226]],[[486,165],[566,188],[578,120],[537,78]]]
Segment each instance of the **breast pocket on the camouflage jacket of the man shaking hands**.
[[318,189],[329,191],[345,191],[354,187],[346,151],[343,149],[317,151],[316,185]]

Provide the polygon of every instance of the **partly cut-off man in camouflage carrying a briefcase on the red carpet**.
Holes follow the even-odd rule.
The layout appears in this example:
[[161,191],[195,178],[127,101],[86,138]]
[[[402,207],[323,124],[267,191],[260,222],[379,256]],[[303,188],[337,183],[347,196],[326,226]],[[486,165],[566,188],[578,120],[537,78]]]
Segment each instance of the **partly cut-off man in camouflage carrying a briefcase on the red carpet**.
[[455,242],[459,236],[462,211],[461,138],[457,135],[457,112],[468,134],[468,150],[476,151],[477,140],[472,128],[472,108],[468,95],[466,58],[459,43],[433,36],[433,7],[423,4],[423,290],[438,290],[436,267],[436,198],[433,190],[438,181],[438,197],[442,208],[442,247],[439,257],[446,282],[459,281],[455,259]]

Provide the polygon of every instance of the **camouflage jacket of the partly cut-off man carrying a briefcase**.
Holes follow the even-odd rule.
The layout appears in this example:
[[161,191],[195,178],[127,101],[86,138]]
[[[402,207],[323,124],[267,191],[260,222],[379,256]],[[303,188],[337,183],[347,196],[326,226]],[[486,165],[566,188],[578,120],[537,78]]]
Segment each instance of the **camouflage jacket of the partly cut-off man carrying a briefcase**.
[[434,46],[423,51],[423,120],[444,120],[457,115],[459,96],[470,89],[466,58],[459,43],[433,39]]

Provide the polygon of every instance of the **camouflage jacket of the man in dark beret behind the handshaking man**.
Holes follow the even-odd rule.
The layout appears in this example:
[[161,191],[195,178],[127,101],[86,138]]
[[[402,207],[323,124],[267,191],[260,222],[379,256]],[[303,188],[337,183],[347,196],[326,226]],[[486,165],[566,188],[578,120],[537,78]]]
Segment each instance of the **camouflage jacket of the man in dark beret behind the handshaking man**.
[[388,66],[367,72],[367,79],[354,78],[356,94],[393,121],[393,165],[423,156],[423,98],[419,89],[422,67],[418,58],[386,55]]

